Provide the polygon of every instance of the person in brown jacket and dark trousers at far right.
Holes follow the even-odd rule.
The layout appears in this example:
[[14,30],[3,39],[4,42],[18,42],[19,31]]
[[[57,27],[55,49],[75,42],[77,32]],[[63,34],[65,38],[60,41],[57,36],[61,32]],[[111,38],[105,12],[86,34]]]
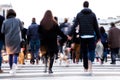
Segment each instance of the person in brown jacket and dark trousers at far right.
[[108,31],[108,44],[111,51],[111,63],[116,64],[116,56],[118,55],[120,48],[120,29],[115,26],[115,23],[111,23],[111,28]]

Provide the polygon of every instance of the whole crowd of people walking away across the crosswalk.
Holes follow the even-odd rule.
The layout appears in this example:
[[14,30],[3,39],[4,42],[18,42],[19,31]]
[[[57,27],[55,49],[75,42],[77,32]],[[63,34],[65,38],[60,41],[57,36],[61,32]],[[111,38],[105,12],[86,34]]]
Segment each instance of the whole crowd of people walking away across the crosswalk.
[[[120,49],[120,29],[111,23],[110,30],[106,33],[104,26],[98,26],[95,13],[89,8],[89,2],[83,3],[83,9],[75,17],[73,24],[65,18],[58,24],[57,17],[51,10],[47,10],[40,21],[32,18],[28,29],[24,28],[24,22],[16,18],[16,12],[9,9],[6,19],[0,16],[0,73],[2,64],[3,46],[9,55],[10,73],[14,74],[17,68],[18,56],[21,51],[26,59],[27,52],[31,53],[31,64],[39,64],[40,58],[45,63],[44,72],[53,73],[54,59],[64,54],[66,59],[72,59],[73,63],[83,61],[85,72],[92,72],[94,59],[100,58],[101,64],[107,62],[107,54],[111,54],[111,64],[116,64],[116,56]],[[101,42],[103,53],[96,56],[96,43]],[[44,48],[44,49],[42,49]],[[22,50],[21,50],[22,49]],[[44,54],[43,54],[44,50]],[[39,55],[41,51],[42,57]],[[99,54],[99,53],[98,53]],[[25,64],[23,61],[22,64]],[[49,64],[49,65],[48,65]]]

